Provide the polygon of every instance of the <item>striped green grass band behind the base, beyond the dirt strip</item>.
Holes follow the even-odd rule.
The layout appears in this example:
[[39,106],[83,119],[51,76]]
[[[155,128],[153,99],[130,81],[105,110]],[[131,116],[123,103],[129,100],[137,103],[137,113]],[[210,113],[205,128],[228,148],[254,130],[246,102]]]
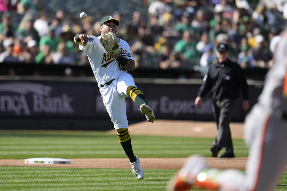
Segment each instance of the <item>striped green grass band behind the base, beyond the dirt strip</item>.
[[[213,138],[131,135],[139,157],[210,156]],[[244,141],[234,139],[236,156],[247,156]],[[223,151],[222,151],[223,152]],[[117,135],[96,131],[0,131],[0,158],[124,158]]]

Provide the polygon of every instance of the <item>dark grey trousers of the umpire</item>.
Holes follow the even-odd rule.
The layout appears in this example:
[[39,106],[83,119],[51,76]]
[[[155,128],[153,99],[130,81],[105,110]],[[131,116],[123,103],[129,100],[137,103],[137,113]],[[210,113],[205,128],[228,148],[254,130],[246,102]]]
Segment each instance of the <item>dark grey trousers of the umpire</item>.
[[225,152],[233,153],[229,123],[235,106],[235,99],[213,100],[213,115],[217,124],[217,135],[212,143],[212,147],[222,149]]

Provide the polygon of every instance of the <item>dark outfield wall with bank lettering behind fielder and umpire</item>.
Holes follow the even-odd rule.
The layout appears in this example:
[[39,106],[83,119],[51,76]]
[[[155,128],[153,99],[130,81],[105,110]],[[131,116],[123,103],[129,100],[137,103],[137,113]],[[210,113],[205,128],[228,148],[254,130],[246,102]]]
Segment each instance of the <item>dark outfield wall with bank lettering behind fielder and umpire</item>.
[[[194,100],[201,79],[135,78],[157,119],[213,121],[212,99]],[[261,81],[248,81],[251,106]],[[126,98],[129,123],[144,121],[138,105]],[[232,121],[244,121],[241,98]],[[94,77],[0,76],[0,129],[105,130],[113,125]]]

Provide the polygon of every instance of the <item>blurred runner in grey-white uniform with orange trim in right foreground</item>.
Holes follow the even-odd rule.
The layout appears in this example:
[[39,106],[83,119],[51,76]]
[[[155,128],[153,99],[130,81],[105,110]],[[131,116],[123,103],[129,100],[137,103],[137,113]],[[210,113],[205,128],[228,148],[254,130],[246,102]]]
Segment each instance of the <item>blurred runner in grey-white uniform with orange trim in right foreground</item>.
[[221,191],[274,190],[287,164],[287,28],[274,50],[263,91],[245,119],[245,174],[209,169],[204,158],[192,156],[167,190],[189,190],[193,185]]

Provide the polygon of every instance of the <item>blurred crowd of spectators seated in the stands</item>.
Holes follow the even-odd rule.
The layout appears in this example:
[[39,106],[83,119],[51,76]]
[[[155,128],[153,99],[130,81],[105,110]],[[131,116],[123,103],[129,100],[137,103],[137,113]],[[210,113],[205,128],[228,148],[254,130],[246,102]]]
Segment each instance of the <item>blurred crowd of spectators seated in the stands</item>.
[[[121,9],[98,18],[87,12],[84,20],[80,12],[67,15],[65,10],[51,16],[42,1],[0,0],[0,62],[89,65],[73,38],[99,36],[100,20],[112,15],[120,21],[117,33],[129,43],[138,68],[204,73],[216,61],[220,42],[229,44],[230,59],[242,68],[269,68],[286,26],[283,10],[268,0],[133,0],[146,12]],[[13,22],[16,15],[19,23]]]

